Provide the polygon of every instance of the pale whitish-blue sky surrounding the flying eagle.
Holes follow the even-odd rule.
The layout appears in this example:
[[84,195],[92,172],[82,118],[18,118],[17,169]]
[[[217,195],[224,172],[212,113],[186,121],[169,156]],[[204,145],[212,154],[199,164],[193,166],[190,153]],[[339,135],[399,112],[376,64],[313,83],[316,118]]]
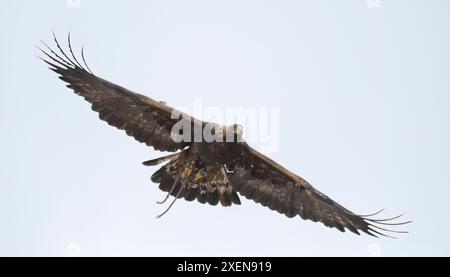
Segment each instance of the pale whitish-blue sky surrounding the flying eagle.
[[[0,255],[450,254],[449,1],[69,2],[2,1]],[[97,75],[172,106],[276,107],[271,158],[355,213],[405,213],[410,234],[340,233],[244,197],[157,220],[165,194],[141,162],[162,154],[36,58],[52,30]]]

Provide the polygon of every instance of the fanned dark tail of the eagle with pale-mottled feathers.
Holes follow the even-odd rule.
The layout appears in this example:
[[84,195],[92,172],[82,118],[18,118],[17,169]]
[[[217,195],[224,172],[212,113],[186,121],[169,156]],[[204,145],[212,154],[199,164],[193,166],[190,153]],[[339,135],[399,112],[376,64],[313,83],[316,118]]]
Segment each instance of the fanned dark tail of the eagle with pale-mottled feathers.
[[151,177],[162,191],[168,192],[167,197],[158,203],[164,203],[170,195],[175,199],[184,198],[187,201],[197,199],[202,204],[217,205],[220,202],[224,207],[241,203],[228,182],[224,166],[205,166],[189,150],[144,164],[157,165],[167,161],[169,162]]

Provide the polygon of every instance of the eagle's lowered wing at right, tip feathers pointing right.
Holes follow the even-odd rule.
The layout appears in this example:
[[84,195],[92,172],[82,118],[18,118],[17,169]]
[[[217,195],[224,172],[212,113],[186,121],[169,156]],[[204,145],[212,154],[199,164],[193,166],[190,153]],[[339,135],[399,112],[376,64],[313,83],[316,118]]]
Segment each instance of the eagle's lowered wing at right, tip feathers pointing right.
[[356,234],[362,231],[372,236],[388,236],[383,231],[405,232],[388,230],[378,225],[409,223],[390,222],[399,216],[377,220],[369,218],[372,215],[356,215],[248,145],[245,145],[242,159],[230,168],[228,179],[232,187],[247,199],[288,217],[299,215],[302,219],[320,221],[342,232],[348,229]]

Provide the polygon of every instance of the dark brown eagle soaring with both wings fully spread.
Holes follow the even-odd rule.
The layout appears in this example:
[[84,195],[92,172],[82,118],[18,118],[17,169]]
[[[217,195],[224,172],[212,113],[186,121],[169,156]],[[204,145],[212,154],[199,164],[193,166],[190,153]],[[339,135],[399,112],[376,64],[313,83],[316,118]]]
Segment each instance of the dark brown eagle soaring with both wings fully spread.
[[[241,126],[222,126],[192,118],[164,102],[104,80],[89,69],[83,49],[81,59],[74,55],[70,34],[67,53],[54,34],[53,38],[58,49],[54,51],[41,41],[46,49],[38,47],[46,57],[41,59],[67,83],[68,88],[91,103],[92,110],[99,114],[101,120],[124,130],[127,135],[155,150],[173,152],[169,156],[144,162],[146,166],[164,163],[151,177],[162,191],[167,192],[166,198],[158,203],[164,203],[169,196],[174,197],[159,217],[179,198],[187,201],[197,199],[202,204],[210,205],[220,203],[228,207],[241,203],[240,194],[289,218],[298,215],[305,220],[320,221],[341,232],[348,229],[358,235],[364,232],[375,237],[392,237],[387,232],[406,233],[383,227],[410,222],[393,222],[401,215],[373,218],[383,210],[371,215],[354,214],[305,179],[251,148],[242,139]],[[174,114],[177,116],[174,117]],[[183,126],[182,132],[174,131],[177,124]],[[216,140],[199,141],[194,138],[194,130],[207,127]],[[183,139],[180,139],[181,133]],[[225,137],[227,140],[221,140]]]

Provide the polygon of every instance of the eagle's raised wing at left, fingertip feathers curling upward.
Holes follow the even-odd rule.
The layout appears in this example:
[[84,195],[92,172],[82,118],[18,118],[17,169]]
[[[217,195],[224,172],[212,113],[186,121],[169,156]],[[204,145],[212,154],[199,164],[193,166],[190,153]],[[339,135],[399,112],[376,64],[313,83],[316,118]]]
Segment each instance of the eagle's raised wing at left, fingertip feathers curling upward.
[[[99,113],[100,119],[125,130],[137,141],[153,146],[156,150],[174,152],[189,145],[189,142],[172,139],[172,127],[180,121],[180,118],[171,118],[173,108],[95,76],[84,61],[83,52],[84,66],[73,54],[70,35],[68,40],[72,58],[66,55],[55,38],[60,54],[43,42],[47,51],[42,52],[48,58],[43,60],[60,75],[61,80],[68,83],[67,87],[92,104],[92,109]],[[202,124],[179,111],[175,114],[183,115],[181,117],[189,120],[189,124]]]

